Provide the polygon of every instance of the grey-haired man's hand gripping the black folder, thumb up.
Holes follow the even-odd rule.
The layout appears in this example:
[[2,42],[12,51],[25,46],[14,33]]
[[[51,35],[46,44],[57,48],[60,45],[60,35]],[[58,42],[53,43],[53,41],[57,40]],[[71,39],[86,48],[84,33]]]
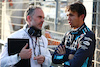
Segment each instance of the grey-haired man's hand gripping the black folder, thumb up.
[[21,59],[29,59],[31,58],[32,55],[32,49],[26,49],[28,47],[28,44],[26,44],[21,52],[19,53],[19,56],[21,57]]

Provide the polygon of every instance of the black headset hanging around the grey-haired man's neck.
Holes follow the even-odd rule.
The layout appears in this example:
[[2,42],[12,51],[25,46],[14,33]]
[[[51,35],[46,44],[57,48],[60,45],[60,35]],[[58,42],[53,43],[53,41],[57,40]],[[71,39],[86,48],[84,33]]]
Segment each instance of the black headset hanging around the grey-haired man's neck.
[[30,34],[30,36],[36,36],[36,37],[41,37],[42,35],[41,30],[33,26],[28,29],[28,33]]

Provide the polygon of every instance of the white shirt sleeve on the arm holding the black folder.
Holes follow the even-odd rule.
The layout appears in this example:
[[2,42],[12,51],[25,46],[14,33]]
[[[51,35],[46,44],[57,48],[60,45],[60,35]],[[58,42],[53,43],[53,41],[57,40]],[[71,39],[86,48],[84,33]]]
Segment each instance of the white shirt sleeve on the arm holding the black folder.
[[1,67],[13,66],[16,63],[18,63],[20,60],[21,58],[19,58],[17,54],[8,56],[7,44],[5,44],[0,56]]

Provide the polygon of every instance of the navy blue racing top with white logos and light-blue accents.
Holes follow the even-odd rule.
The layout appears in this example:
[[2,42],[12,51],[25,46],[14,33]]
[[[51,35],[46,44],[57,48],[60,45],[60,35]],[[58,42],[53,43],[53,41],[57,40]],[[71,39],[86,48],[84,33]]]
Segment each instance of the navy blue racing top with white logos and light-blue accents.
[[[65,45],[66,54],[58,54],[58,47]],[[90,67],[95,50],[95,34],[85,25],[85,23],[75,31],[67,32],[52,55],[54,64],[64,63],[64,67]],[[69,60],[69,54],[73,54],[73,59]]]

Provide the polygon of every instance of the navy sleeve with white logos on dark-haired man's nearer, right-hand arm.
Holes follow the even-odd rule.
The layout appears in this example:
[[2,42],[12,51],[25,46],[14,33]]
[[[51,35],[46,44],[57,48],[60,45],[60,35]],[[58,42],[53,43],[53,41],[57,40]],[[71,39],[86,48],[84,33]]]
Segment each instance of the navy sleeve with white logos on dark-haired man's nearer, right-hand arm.
[[[73,59],[66,61],[65,67],[86,67],[88,60],[93,56],[95,50],[95,35],[87,34],[80,41]],[[91,59],[92,60],[92,59]],[[86,62],[86,66],[84,65]]]

